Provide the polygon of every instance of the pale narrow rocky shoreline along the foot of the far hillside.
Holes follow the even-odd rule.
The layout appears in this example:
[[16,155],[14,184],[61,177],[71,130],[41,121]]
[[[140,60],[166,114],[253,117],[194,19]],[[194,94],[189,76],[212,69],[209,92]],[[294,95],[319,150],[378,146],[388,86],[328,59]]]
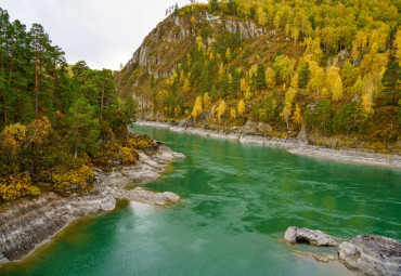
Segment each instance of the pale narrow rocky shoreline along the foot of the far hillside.
[[295,155],[301,155],[312,158],[319,158],[324,160],[332,160],[342,163],[357,163],[365,166],[376,166],[391,169],[401,169],[401,156],[378,154],[371,152],[362,152],[358,149],[333,149],[321,146],[310,145],[305,136],[298,137],[279,139],[279,137],[267,137],[257,134],[249,134],[249,132],[243,131],[227,132],[227,131],[214,131],[209,129],[199,129],[185,126],[184,123],[166,123],[159,121],[147,121],[138,120],[138,126],[151,126],[168,128],[171,131],[197,134],[202,136],[208,136],[214,139],[224,139],[231,141],[237,141],[240,143],[256,144],[271,147],[286,148],[288,153]]

